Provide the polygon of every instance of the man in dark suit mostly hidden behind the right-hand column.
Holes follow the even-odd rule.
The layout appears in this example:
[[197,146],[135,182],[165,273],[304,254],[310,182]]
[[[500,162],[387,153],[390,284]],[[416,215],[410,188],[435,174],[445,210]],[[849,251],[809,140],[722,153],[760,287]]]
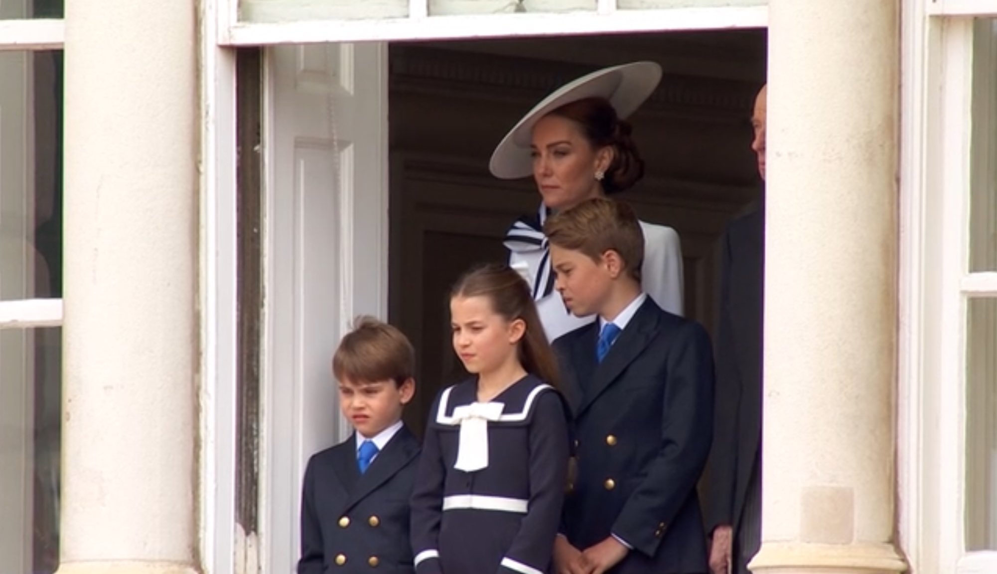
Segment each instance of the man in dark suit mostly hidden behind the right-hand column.
[[[765,179],[766,88],[755,100],[752,149]],[[762,306],[765,201],[723,237],[716,430],[707,485],[713,574],[748,574],[762,531]]]

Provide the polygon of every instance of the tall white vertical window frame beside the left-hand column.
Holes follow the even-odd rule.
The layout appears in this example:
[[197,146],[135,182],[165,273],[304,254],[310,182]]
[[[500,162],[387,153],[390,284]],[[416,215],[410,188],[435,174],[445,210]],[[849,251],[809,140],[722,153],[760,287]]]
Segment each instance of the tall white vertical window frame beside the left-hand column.
[[235,51],[221,46],[218,0],[200,18],[200,561],[205,574],[246,572],[235,535],[238,373]]

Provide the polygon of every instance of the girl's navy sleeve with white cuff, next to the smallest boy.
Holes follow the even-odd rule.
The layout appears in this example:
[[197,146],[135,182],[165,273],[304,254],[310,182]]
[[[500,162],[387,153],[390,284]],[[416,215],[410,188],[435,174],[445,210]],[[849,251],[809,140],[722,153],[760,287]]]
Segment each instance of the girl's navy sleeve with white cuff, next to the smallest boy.
[[[433,403],[430,416],[437,412],[440,398]],[[412,489],[412,555],[417,574],[441,574],[440,521],[443,517],[443,488],[447,466],[440,449],[440,433],[432,421],[426,426],[423,451],[419,457],[416,484]]]

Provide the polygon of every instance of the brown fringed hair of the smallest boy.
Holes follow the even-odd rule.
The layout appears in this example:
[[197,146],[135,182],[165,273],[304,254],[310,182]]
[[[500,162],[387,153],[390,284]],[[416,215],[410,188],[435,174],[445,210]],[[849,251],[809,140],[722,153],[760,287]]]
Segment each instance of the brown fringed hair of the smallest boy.
[[339,342],[332,372],[340,382],[394,381],[401,386],[415,375],[416,352],[397,328],[373,317],[361,316]]

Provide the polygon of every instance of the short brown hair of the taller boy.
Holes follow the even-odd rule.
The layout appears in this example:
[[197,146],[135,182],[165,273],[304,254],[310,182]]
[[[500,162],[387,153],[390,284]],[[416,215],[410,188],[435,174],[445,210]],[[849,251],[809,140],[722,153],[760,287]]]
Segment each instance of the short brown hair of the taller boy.
[[543,224],[552,245],[579,251],[598,261],[610,249],[619,254],[627,273],[640,282],[644,263],[644,232],[633,208],[620,201],[595,197],[552,215]]

